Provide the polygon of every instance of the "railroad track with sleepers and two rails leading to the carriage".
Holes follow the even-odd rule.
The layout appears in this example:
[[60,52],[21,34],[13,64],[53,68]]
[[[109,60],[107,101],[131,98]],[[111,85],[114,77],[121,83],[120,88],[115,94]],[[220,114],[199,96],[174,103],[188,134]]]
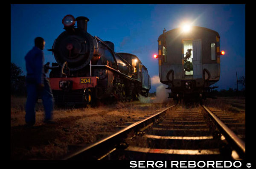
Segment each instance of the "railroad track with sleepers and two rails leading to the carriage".
[[[173,105],[130,124],[101,141],[71,152],[63,159],[239,160],[245,158],[245,128],[242,128],[242,124],[220,110],[210,111],[204,105],[196,108]],[[236,128],[236,125],[239,127]],[[227,126],[233,131],[239,130],[236,130],[235,134]]]

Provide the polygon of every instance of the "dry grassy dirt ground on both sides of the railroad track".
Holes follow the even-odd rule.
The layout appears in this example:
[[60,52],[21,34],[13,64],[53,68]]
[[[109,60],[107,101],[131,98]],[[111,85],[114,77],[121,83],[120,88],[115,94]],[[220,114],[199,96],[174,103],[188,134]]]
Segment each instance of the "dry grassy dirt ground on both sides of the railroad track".
[[[118,102],[94,108],[54,107],[56,124],[44,124],[44,107],[39,100],[35,125],[25,127],[26,98],[11,96],[11,159],[61,159],[74,144],[91,144],[120,130],[127,122],[174,104],[172,99],[169,103],[145,102]],[[245,123],[244,98],[207,99],[205,105],[218,107]]]

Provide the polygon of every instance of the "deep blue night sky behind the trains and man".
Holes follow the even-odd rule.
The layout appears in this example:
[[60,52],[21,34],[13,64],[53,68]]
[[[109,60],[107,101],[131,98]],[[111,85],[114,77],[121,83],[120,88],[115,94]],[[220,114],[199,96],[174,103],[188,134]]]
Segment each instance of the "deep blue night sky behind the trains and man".
[[[115,44],[116,52],[137,55],[148,73],[158,74],[157,39],[163,29],[178,28],[183,21],[220,34],[221,77],[218,90],[236,88],[245,76],[245,5],[11,5],[11,62],[26,75],[24,57],[34,46],[35,37],[46,41],[45,63],[56,62],[51,49],[64,31],[61,20],[67,14],[89,18],[87,32]],[[151,85],[150,93],[157,84]],[[239,86],[239,90],[242,86]]]

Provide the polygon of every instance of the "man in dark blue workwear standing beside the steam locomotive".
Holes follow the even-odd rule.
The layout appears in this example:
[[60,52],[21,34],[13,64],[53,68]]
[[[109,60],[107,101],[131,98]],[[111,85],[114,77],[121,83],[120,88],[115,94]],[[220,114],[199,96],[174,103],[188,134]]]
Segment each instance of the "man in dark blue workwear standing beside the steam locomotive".
[[49,82],[44,72],[44,46],[45,41],[41,37],[35,38],[35,46],[26,54],[26,126],[35,124],[35,104],[38,96],[41,96],[44,104],[45,123],[54,123],[52,121],[53,96]]

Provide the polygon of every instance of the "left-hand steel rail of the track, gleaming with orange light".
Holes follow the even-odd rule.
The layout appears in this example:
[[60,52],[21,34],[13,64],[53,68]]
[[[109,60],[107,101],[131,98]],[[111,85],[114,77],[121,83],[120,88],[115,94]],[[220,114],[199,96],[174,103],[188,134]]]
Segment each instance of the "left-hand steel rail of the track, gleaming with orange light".
[[[108,150],[115,148],[115,144],[120,143],[122,139],[124,139],[131,130],[139,130],[140,128],[145,127],[145,125],[148,125],[155,121],[156,118],[159,117],[162,113],[165,113],[167,110],[169,110],[172,107],[175,107],[177,104],[174,104],[170,107],[167,107],[166,109],[160,111],[159,113],[156,113],[154,115],[149,116],[148,118],[145,118],[141,121],[137,121],[134,124],[131,124],[130,126],[120,130],[119,132],[114,133],[113,135],[108,136],[107,138],[103,138],[102,140],[91,144],[89,146],[83,147],[79,149],[77,152],[70,153],[65,158],[61,160],[76,160],[76,159],[97,159],[94,155],[97,152],[101,152],[103,149],[106,149],[106,147],[109,147]],[[110,147],[112,146],[112,147]],[[107,151],[107,150],[106,150]]]

